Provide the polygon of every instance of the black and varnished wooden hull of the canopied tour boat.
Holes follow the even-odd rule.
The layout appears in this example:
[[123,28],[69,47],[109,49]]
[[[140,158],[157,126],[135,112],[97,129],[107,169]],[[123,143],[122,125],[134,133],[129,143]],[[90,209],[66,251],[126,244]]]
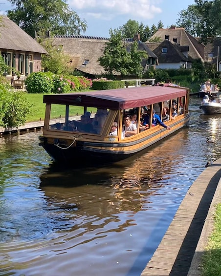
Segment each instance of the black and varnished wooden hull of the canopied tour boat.
[[47,151],[54,162],[60,164],[94,166],[96,164],[113,163],[126,159],[148,148],[178,129],[186,126],[189,122],[189,117],[190,114],[186,114],[182,120],[173,122],[170,125],[170,130],[156,126],[152,128],[152,131],[143,131],[143,135],[139,138],[128,142],[126,142],[126,140],[120,142],[99,142],[76,139],[74,144],[68,148],[68,143],[63,143],[62,140],[52,139],[51,141],[50,138],[40,136],[39,139],[41,142],[39,145]]

